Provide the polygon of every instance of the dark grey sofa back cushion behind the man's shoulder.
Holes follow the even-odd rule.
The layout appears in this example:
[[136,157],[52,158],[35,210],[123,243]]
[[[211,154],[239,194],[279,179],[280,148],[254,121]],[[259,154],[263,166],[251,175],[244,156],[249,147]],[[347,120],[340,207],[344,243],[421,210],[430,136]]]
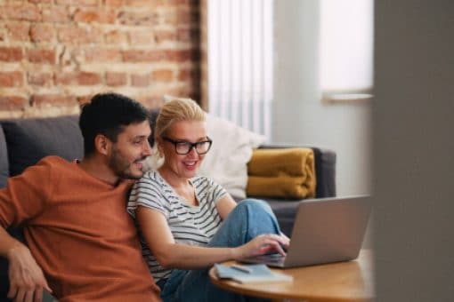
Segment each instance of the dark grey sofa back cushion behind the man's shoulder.
[[47,155],[59,155],[69,161],[84,155],[76,115],[4,121],[2,127],[11,176]]

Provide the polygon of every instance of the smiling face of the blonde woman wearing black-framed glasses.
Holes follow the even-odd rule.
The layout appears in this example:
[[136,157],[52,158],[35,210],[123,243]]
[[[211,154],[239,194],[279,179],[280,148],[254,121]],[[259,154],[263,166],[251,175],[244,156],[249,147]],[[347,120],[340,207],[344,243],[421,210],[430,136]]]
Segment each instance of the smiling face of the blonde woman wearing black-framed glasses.
[[[158,141],[165,158],[162,168],[170,174],[174,174],[175,177],[191,179],[199,170],[200,163],[202,163],[205,155],[199,155],[196,147],[185,143],[194,144],[203,141],[207,141],[205,122],[182,121],[174,123]],[[204,146],[207,145],[199,144],[199,152],[202,151]],[[190,147],[191,150],[188,154],[178,154],[184,153]]]

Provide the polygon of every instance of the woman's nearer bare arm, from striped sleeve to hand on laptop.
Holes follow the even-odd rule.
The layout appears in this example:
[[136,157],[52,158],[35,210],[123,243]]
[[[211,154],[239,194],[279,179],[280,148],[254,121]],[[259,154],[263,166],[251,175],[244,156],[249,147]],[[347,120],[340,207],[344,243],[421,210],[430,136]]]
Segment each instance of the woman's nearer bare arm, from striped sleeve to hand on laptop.
[[263,234],[236,248],[211,248],[178,244],[168,227],[166,218],[158,211],[139,206],[136,217],[142,234],[159,264],[167,268],[194,269],[216,262],[262,255],[280,248],[282,238],[277,234]]

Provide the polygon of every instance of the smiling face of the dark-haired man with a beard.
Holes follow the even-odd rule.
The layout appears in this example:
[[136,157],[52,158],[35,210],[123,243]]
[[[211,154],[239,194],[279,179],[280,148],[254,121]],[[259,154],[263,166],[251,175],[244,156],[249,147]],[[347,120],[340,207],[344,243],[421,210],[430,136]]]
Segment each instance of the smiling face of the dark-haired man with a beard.
[[151,155],[150,123],[132,123],[118,134],[109,154],[109,168],[122,179],[140,179],[144,160]]

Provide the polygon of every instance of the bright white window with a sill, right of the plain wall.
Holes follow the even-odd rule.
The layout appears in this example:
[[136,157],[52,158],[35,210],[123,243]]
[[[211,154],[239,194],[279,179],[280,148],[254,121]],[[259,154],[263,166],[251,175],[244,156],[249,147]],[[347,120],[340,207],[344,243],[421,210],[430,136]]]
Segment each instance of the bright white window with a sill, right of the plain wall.
[[373,87],[373,0],[320,1],[323,99],[370,99]]

